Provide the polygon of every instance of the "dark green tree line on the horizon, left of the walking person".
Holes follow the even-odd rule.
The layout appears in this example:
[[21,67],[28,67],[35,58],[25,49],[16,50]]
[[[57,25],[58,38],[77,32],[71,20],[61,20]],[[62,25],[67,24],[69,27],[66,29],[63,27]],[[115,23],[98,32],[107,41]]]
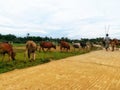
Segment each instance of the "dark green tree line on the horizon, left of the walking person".
[[40,37],[40,36],[30,36],[27,34],[26,37],[17,37],[13,34],[7,34],[7,35],[2,35],[0,34],[0,42],[14,42],[14,43],[25,43],[28,40],[33,40],[35,42],[40,42],[40,41],[52,41],[52,42],[59,42],[60,40],[65,40],[69,43],[72,42],[87,42],[91,41],[93,43],[97,43],[103,40],[102,37],[99,38],[93,38],[93,39],[88,39],[88,38],[81,38],[81,39],[69,39],[67,37],[61,37],[61,38],[52,38],[52,37]]

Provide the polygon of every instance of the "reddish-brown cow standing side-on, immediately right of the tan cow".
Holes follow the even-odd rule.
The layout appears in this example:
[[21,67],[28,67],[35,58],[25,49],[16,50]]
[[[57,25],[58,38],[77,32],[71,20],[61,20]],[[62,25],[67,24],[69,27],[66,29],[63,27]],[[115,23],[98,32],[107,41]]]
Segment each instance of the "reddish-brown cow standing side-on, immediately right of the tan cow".
[[41,50],[41,48],[42,48],[43,51],[45,51],[44,48],[47,48],[47,51],[48,51],[48,50],[50,50],[51,48],[56,49],[56,45],[54,45],[52,42],[42,41],[42,42],[40,43],[40,49],[39,49],[39,51]]

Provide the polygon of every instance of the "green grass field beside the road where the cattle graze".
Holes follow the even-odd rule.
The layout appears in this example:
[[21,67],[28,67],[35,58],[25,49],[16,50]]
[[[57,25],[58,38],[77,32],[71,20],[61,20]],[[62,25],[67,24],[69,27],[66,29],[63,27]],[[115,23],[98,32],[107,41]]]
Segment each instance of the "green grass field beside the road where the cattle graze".
[[[0,55],[0,73],[8,72],[14,69],[26,68],[30,66],[35,66],[43,63],[50,62],[52,60],[59,60],[62,58],[80,55],[89,52],[88,50],[76,50],[72,48],[69,52],[60,52],[59,46],[56,50],[51,49],[49,52],[38,52],[36,51],[36,60],[30,62],[25,60],[24,53],[25,53],[25,45],[24,44],[14,44],[14,50],[16,52],[16,60],[15,61],[8,61],[8,56],[6,55],[4,61],[1,61]],[[96,49],[96,48],[94,48]]]

